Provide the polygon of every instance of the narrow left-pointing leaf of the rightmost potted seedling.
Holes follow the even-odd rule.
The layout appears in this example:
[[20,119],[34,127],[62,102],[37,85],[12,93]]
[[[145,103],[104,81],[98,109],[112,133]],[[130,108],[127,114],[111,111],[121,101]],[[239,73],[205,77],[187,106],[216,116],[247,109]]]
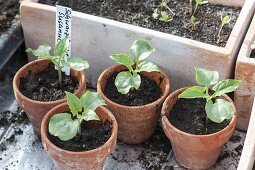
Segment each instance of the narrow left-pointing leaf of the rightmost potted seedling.
[[193,98],[205,98],[206,96],[207,95],[205,94],[204,87],[193,86],[179,94],[178,98],[193,99]]

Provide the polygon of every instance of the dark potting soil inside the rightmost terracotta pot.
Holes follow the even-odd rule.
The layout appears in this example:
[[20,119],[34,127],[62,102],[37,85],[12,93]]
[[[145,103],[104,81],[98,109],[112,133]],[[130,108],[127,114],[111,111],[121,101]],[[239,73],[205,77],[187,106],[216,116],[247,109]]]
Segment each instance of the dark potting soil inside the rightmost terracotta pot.
[[205,99],[178,99],[168,120],[177,129],[196,135],[212,134],[224,129],[230,121],[214,123],[206,120],[205,104]]

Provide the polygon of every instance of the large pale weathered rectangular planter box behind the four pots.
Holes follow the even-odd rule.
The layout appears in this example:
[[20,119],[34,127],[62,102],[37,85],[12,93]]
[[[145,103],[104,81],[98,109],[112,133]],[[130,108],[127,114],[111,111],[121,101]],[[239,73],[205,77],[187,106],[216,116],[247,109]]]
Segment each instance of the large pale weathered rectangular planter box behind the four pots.
[[[148,39],[156,49],[149,59],[168,72],[171,90],[195,84],[194,67],[218,70],[221,78],[229,78],[233,76],[236,56],[254,9],[255,1],[246,0],[225,48],[73,12],[72,53],[89,61],[91,67],[86,74],[93,86],[99,74],[113,64],[109,55],[127,53],[131,43],[138,38]],[[21,20],[27,47],[35,48],[45,42],[53,45],[54,7],[23,2]]]

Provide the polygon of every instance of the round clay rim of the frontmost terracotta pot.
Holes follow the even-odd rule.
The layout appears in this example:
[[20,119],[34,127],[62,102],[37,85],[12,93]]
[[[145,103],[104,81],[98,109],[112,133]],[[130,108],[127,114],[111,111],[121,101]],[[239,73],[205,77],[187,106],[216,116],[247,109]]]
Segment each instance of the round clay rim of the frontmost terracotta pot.
[[[110,138],[101,146],[99,146],[98,148],[95,148],[95,149],[92,149],[92,150],[88,150],[88,151],[80,151],[80,152],[75,152],[75,151],[68,151],[68,150],[65,150],[65,149],[62,149],[56,145],[54,145],[48,138],[47,136],[47,132],[48,132],[48,124],[49,124],[49,120],[50,118],[55,115],[55,114],[58,114],[58,113],[52,113],[54,112],[55,110],[63,107],[63,106],[66,106],[67,103],[62,103],[60,105],[57,105],[55,106],[54,108],[52,108],[43,118],[42,120],[42,124],[41,124],[41,137],[45,140],[45,143],[47,143],[47,145],[50,146],[50,148],[54,148],[55,150],[57,150],[57,152],[64,152],[68,155],[73,155],[73,156],[77,156],[77,155],[83,155],[83,154],[92,154],[92,153],[95,153],[95,152],[98,152],[98,150],[102,150],[103,148],[106,148],[108,147],[108,145],[110,145],[111,141],[114,140],[114,136],[117,136],[117,131],[118,131],[118,125],[117,125],[117,121],[115,119],[115,117],[112,115],[112,113],[104,106],[99,106],[104,112],[106,112],[106,114],[109,116],[110,120],[113,121],[113,124],[112,124],[112,133],[111,133],[111,136]],[[52,114],[52,116],[50,117],[49,115]],[[48,120],[47,120],[48,119]],[[44,142],[43,142],[43,145]],[[48,146],[44,146],[44,148],[48,148]]]

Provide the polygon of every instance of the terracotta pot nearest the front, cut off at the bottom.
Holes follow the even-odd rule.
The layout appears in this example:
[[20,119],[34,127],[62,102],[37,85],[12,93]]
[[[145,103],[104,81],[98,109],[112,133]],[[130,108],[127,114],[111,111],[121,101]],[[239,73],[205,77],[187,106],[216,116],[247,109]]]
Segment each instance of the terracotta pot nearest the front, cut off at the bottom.
[[112,134],[109,140],[102,146],[84,152],[72,152],[61,149],[55,146],[47,137],[48,134],[48,124],[50,118],[61,112],[70,111],[68,105],[63,103],[51,109],[43,118],[41,126],[41,135],[43,147],[47,154],[53,159],[54,165],[59,170],[101,170],[103,169],[104,162],[107,156],[113,151],[116,145],[117,121],[112,115],[112,113],[105,107],[98,107],[95,111],[99,116],[101,121],[112,121]]

